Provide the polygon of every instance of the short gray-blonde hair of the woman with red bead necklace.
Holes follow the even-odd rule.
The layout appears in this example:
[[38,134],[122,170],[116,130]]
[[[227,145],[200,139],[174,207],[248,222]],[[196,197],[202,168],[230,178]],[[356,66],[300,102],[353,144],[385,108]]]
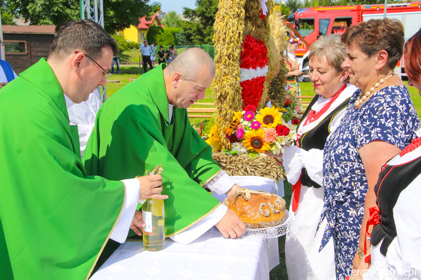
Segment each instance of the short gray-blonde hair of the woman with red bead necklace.
[[343,71],[341,64],[346,58],[346,46],[341,42],[341,36],[335,34],[324,35],[310,46],[309,60],[323,57],[338,73]]

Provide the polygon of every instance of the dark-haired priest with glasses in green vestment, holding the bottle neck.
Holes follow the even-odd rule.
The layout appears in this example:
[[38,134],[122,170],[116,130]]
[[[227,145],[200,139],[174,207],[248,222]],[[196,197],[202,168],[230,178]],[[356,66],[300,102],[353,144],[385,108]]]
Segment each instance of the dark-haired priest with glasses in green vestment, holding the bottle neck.
[[0,90],[1,280],[88,279],[109,238],[142,226],[139,199],[166,198],[160,175],[110,181],[82,165],[67,105],[105,85],[116,52],[98,23],[80,20]]

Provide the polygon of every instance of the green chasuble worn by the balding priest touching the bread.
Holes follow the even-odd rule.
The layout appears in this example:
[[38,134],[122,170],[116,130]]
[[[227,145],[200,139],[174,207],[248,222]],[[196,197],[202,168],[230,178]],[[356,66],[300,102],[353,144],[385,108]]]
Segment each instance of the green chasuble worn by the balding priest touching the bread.
[[162,165],[165,235],[198,222],[220,203],[201,185],[220,172],[211,147],[190,125],[186,109],[173,108],[162,69],[141,75],[100,107],[83,162],[86,172],[110,180],[144,175]]

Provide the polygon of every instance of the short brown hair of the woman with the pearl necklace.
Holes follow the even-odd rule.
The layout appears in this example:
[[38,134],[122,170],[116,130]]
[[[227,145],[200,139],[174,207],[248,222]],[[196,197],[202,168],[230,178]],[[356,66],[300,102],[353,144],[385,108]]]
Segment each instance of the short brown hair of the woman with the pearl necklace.
[[346,29],[341,41],[346,46],[356,46],[368,57],[381,50],[388,54],[387,66],[394,69],[403,53],[403,25],[397,19],[370,19]]

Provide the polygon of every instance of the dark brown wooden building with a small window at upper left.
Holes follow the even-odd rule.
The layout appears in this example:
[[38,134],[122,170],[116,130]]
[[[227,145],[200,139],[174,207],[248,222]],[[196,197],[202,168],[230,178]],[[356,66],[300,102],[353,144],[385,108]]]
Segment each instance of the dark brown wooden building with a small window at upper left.
[[6,61],[16,74],[48,57],[54,39],[54,25],[3,25]]

